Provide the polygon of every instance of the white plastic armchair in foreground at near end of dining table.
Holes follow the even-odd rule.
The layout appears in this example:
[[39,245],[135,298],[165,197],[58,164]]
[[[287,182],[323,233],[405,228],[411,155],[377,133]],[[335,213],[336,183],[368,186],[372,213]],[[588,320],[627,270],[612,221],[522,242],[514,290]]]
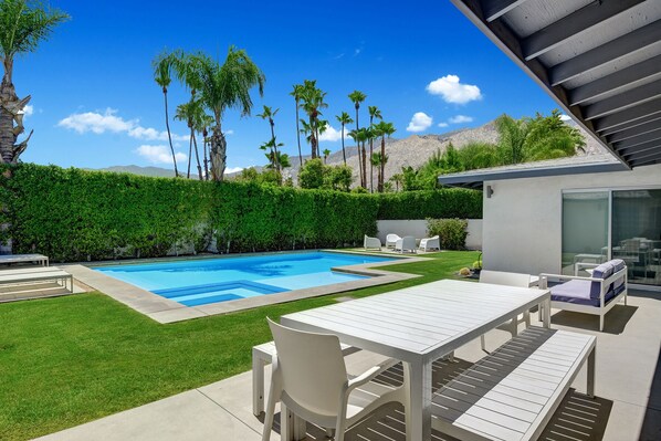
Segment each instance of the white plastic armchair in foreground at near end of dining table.
[[[352,378],[347,375],[339,339],[335,335],[292,329],[269,319],[276,355],[273,357],[271,391],[264,417],[262,441],[269,441],[275,403],[297,418],[335,429],[335,441],[343,441],[345,430],[378,407],[403,403],[405,386],[391,387],[371,381],[396,360],[387,360]],[[282,413],[281,421],[286,419]],[[281,424],[282,427],[282,424]],[[286,439],[286,433],[281,433]]]

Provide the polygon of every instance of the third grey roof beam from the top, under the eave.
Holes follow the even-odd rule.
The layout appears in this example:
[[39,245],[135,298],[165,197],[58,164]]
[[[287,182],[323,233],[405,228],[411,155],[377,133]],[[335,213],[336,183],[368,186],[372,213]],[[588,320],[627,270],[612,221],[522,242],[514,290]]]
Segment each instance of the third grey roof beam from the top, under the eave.
[[661,40],[658,22],[639,28],[606,44],[591,49],[548,70],[550,84],[557,86],[568,80],[597,69],[608,62],[627,56]]

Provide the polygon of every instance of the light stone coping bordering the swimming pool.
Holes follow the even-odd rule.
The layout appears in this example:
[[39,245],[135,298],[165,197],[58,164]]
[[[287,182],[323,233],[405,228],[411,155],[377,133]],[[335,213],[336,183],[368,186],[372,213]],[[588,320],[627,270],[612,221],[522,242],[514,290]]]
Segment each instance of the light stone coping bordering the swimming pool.
[[[360,255],[373,255],[373,256],[389,256],[386,253],[361,253],[357,251],[339,251],[339,250],[305,250],[311,251],[324,251],[324,252],[338,252],[346,254],[360,254]],[[287,252],[288,253],[288,252]],[[244,256],[254,255],[272,255],[274,253],[250,253],[242,254]],[[221,258],[220,255],[212,255],[213,258]],[[237,255],[227,255],[228,258],[235,258]],[[360,279],[349,282],[335,283],[332,285],[315,286],[304,290],[293,290],[284,293],[260,295],[255,297],[241,298],[235,301],[210,303],[207,305],[199,306],[185,306],[180,303],[159,296],[158,294],[150,293],[147,290],[139,288],[130,283],[119,281],[109,275],[106,275],[99,271],[94,271],[92,267],[105,266],[109,263],[95,262],[93,264],[70,264],[61,265],[65,266],[66,271],[71,273],[77,281],[97,290],[109,297],[125,304],[126,306],[137,311],[140,314],[148,316],[149,318],[161,323],[176,323],[191,318],[208,317],[219,314],[235,313],[239,311],[252,309],[260,306],[274,305],[279,303],[294,302],[303,298],[317,297],[321,295],[336,294],[346,291],[354,291],[369,286],[385,285],[392,282],[399,282],[408,279],[419,277],[418,274],[398,273],[395,271],[385,271],[381,267],[401,264],[427,261],[424,258],[418,258],[415,255],[391,255],[401,258],[398,260],[386,261],[386,262],[371,262],[361,263],[357,265],[345,265],[333,267],[332,271],[344,272],[349,274],[366,275],[370,279]],[[211,258],[211,256],[209,256]],[[202,259],[207,259],[206,256]],[[181,259],[183,260],[183,259]],[[165,259],[150,260],[153,262],[164,262]],[[177,261],[177,260],[168,260]],[[140,263],[147,263],[146,260],[140,260]],[[123,264],[126,262],[122,262]],[[135,262],[137,263],[137,262]],[[115,261],[114,264],[117,264]]]

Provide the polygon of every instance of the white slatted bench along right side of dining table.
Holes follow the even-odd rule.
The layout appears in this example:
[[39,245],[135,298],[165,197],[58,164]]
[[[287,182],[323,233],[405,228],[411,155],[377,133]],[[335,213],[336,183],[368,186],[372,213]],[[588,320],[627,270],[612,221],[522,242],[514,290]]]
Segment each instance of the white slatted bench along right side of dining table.
[[432,427],[464,440],[535,440],[583,364],[595,392],[596,337],[531,327],[443,386]]

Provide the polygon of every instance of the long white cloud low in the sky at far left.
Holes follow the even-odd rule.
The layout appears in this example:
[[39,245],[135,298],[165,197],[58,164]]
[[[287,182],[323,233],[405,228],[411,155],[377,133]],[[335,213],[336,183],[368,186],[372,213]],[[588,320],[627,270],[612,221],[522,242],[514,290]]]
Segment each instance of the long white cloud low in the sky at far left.
[[[72,129],[78,134],[92,132],[96,135],[102,135],[106,132],[126,133],[132,138],[144,140],[168,140],[167,132],[159,132],[151,127],[140,126],[138,119],[124,119],[117,116],[117,111],[106,108],[105,112],[85,112],[80,114],[71,114],[66,118],[57,123],[57,126]],[[188,135],[171,134],[172,140],[187,141]]]

